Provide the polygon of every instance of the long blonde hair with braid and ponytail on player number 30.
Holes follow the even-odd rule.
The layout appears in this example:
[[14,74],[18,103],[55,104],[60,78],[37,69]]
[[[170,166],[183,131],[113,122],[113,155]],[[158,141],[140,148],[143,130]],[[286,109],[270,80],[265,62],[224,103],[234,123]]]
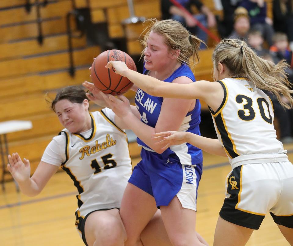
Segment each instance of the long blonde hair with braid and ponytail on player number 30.
[[[242,50],[242,52],[241,52]],[[282,60],[276,65],[266,61],[253,52],[246,42],[240,39],[224,39],[216,46],[213,56],[214,79],[217,64],[225,64],[230,76],[247,77],[255,87],[273,92],[280,104],[285,108],[292,108],[293,98],[288,87],[292,84],[288,81],[285,69],[288,64]],[[288,99],[283,102],[281,97]]]

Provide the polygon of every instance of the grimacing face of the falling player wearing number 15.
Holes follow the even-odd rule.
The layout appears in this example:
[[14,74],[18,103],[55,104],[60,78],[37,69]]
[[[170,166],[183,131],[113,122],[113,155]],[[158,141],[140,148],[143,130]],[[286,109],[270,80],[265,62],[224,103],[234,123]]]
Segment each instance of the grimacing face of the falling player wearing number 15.
[[55,104],[55,111],[60,123],[73,133],[80,133],[91,128],[88,104],[72,103],[62,99]]

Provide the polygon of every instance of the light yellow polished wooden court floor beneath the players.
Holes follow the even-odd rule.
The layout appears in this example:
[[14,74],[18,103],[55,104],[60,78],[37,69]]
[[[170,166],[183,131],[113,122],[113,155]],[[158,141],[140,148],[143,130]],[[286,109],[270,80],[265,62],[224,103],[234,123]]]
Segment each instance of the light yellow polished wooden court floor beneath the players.
[[[293,144],[284,147],[293,161]],[[138,161],[135,159],[133,163]],[[210,245],[224,200],[226,175],[231,169],[227,161],[204,153],[204,172],[197,197],[197,231]],[[6,183],[6,192],[0,191],[0,245],[83,245],[74,225],[76,193],[65,172],[54,175],[42,193],[33,198],[16,193],[13,182]],[[247,245],[289,244],[267,215]]]

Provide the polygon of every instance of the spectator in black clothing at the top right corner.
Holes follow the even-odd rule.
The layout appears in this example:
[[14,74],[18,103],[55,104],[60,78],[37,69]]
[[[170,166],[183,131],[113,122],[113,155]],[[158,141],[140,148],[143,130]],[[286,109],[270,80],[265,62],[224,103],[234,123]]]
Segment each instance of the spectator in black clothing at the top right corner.
[[291,0],[273,0],[273,27],[278,32],[284,32],[293,50],[293,4]]

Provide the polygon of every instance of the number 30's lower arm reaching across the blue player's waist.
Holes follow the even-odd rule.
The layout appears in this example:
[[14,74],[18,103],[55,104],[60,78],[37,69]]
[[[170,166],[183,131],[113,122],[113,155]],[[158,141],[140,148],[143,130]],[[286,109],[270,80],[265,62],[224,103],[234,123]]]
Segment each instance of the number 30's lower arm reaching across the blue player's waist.
[[191,132],[159,132],[153,135],[153,139],[159,145],[163,145],[162,150],[166,150],[172,145],[179,145],[182,143],[190,143],[193,146],[204,150],[210,154],[227,156],[224,148],[220,144],[218,139],[206,138],[193,134]]

